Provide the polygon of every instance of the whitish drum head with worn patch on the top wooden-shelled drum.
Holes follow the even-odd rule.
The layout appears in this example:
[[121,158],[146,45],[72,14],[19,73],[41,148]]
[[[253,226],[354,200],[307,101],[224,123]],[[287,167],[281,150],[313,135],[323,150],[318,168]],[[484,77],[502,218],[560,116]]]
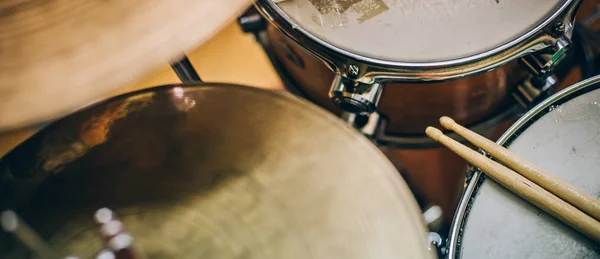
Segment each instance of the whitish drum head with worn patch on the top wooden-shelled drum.
[[338,48],[388,61],[439,62],[532,30],[559,0],[284,0],[298,26]]

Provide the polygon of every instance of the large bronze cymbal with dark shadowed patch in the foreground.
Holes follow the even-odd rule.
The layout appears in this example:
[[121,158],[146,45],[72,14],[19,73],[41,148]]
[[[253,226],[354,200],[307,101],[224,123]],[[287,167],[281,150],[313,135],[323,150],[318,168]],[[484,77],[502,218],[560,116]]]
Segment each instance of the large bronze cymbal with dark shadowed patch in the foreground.
[[385,156],[286,93],[203,84],[128,94],[38,132],[0,172],[0,209],[80,258],[102,248],[101,207],[149,258],[433,258]]

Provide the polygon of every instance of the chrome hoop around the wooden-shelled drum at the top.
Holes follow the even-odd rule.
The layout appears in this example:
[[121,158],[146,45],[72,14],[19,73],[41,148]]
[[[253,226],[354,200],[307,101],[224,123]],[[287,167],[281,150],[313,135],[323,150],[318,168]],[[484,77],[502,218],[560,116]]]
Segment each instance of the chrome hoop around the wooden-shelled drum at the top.
[[[355,54],[334,46],[302,28],[272,0],[257,0],[255,6],[277,29],[316,55],[327,65],[333,65],[334,68],[338,69],[355,63],[369,65],[370,67],[366,69],[367,73],[364,75],[366,78],[357,81],[372,83],[381,79],[405,81],[449,80],[503,66],[529,53],[551,46],[556,39],[549,40],[549,35],[544,33],[543,30],[554,21],[562,21],[563,15],[569,16],[568,14],[576,10],[581,1],[565,0],[532,29],[498,47],[467,57],[436,62],[401,62]],[[574,15],[572,16],[571,18],[574,18]],[[571,18],[569,18],[569,21],[571,21]],[[567,28],[569,37],[571,32],[571,28]],[[342,56],[342,58],[337,61],[333,60],[337,56]],[[338,63],[345,64],[340,65]],[[383,72],[379,71],[382,69]]]

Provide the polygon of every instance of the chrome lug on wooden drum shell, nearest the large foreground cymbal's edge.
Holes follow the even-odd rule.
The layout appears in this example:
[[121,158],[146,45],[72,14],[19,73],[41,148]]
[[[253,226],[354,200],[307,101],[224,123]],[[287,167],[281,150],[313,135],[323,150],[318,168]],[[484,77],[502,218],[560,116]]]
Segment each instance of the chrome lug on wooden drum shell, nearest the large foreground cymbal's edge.
[[377,110],[383,86],[379,83],[363,84],[336,75],[329,97],[342,110],[356,114],[370,114]]

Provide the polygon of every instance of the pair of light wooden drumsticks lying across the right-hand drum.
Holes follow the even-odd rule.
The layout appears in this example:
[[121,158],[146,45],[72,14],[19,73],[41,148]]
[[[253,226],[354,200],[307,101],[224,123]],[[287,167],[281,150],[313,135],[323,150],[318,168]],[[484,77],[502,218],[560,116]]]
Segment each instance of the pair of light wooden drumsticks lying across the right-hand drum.
[[506,167],[445,136],[434,127],[427,127],[427,136],[478,167],[508,190],[594,241],[600,242],[600,201],[503,146],[459,125],[451,118],[442,117],[440,123]]

